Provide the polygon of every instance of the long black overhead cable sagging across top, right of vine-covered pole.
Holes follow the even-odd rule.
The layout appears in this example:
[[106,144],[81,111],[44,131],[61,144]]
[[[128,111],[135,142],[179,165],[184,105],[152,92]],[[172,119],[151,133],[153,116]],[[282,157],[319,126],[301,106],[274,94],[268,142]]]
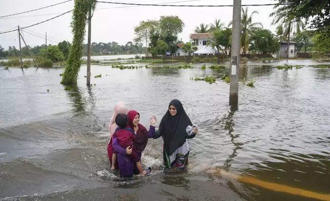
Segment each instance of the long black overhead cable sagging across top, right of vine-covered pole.
[[[233,7],[233,5],[159,5],[159,4],[135,4],[135,3],[119,3],[119,2],[101,2],[106,4],[120,4],[120,5],[134,5],[134,6],[168,6],[168,7]],[[289,4],[248,4],[243,6],[275,6],[275,5],[289,5]]]

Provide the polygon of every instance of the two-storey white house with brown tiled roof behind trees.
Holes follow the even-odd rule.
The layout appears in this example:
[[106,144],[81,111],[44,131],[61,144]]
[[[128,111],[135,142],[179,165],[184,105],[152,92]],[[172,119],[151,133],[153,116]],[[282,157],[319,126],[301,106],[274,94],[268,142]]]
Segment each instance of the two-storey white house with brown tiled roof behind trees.
[[[191,33],[190,39],[193,46],[197,46],[198,50],[194,52],[195,55],[215,55],[218,51],[207,46],[211,33]],[[224,47],[221,47],[224,49]],[[229,54],[229,50],[224,50]]]

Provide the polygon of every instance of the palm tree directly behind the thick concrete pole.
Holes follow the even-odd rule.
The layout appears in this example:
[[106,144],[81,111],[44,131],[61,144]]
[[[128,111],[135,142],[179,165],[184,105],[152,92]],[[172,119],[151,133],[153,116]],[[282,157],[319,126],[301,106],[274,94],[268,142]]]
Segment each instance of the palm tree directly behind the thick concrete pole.
[[[261,23],[252,23],[252,16],[254,14],[259,14],[259,13],[258,13],[258,11],[255,10],[249,16],[248,7],[246,7],[245,9],[242,8],[240,42],[241,42],[241,47],[244,47],[244,53],[248,52],[250,37],[255,35],[255,31],[258,27],[262,28]],[[231,26],[232,24],[233,24],[233,21],[231,21],[228,26]]]

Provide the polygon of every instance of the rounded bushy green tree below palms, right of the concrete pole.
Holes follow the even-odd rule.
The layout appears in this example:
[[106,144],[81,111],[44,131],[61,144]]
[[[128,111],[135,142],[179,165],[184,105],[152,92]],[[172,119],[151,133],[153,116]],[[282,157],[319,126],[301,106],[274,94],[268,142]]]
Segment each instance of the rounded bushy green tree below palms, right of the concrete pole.
[[250,51],[260,51],[263,54],[279,51],[280,44],[270,30],[257,28],[254,33],[251,37]]

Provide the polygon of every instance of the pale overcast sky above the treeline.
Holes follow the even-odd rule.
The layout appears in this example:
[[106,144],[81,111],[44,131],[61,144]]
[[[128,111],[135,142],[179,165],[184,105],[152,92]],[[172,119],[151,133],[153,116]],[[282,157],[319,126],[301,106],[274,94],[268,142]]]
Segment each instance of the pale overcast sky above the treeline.
[[[104,0],[110,1],[110,0]],[[233,0],[112,0],[122,3],[144,3],[144,4],[162,4],[172,3],[176,5],[232,5]],[[186,2],[184,2],[186,1]],[[64,0],[0,0],[0,15],[14,14],[24,12],[40,7],[49,6],[52,4],[64,2]],[[181,2],[181,3],[173,3]],[[270,4],[273,0],[242,0],[244,4]],[[0,32],[17,27],[29,26],[46,19],[54,17],[73,9],[74,1],[46,8],[38,11],[33,11],[25,14],[0,18]],[[119,7],[119,8],[118,8]],[[253,22],[260,22],[265,29],[275,31],[275,26],[271,26],[272,19],[269,18],[269,13],[273,11],[273,6],[249,7],[249,14],[253,10],[257,10],[259,14],[254,15]],[[200,23],[212,23],[215,18],[220,18],[221,22],[226,25],[232,19],[232,7],[151,7],[151,6],[134,6],[127,7],[121,5],[98,3],[92,18],[92,42],[112,42],[115,41],[120,45],[132,41],[134,38],[134,27],[140,21],[147,19],[159,19],[162,15],[178,15],[185,26],[183,32],[179,34],[179,39],[183,42],[189,41],[189,34],[194,32],[196,26]],[[37,16],[36,16],[37,15]],[[57,44],[58,41],[72,41],[72,33],[70,28],[72,13],[65,14],[52,21],[36,25],[28,28],[27,31],[34,35],[44,37],[47,32],[48,44]],[[40,34],[40,35],[39,35]],[[30,46],[45,44],[45,39],[24,33],[26,43]],[[85,40],[87,41],[87,39]],[[18,47],[17,31],[0,34],[0,45],[4,48],[8,46]]]

